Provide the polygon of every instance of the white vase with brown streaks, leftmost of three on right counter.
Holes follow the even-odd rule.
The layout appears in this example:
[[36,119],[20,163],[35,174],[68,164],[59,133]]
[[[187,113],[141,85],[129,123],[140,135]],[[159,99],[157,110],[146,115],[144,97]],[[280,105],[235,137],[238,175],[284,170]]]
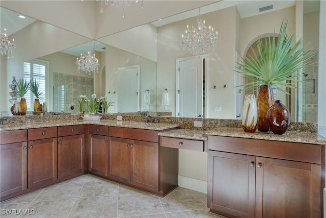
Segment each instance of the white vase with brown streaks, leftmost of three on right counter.
[[246,94],[244,97],[241,115],[241,124],[244,132],[255,132],[258,123],[258,112],[254,94]]

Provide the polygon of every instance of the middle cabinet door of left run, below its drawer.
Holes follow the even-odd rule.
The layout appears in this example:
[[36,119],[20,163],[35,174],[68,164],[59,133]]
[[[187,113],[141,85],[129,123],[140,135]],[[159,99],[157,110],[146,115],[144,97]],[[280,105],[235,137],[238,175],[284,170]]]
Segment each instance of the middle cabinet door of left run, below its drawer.
[[57,180],[57,160],[57,138],[29,141],[28,187]]

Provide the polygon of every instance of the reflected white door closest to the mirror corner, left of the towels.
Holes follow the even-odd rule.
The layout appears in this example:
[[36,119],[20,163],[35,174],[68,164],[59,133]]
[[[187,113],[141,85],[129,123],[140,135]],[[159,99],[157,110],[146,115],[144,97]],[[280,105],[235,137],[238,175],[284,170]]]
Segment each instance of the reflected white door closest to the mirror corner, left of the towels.
[[118,70],[118,111],[139,111],[138,67]]

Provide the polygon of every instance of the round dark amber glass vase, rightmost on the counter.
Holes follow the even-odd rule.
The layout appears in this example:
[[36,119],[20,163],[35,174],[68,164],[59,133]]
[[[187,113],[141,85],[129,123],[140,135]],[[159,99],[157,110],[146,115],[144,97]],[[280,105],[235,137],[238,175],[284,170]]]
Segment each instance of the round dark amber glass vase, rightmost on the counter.
[[267,112],[270,130],[274,134],[282,135],[290,124],[290,112],[280,100],[275,101]]

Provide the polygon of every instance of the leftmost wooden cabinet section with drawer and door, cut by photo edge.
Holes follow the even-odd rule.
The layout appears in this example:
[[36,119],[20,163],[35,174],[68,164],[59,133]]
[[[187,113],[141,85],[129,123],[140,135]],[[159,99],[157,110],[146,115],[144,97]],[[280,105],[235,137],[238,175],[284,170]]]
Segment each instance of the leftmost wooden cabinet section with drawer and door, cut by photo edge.
[[27,166],[27,130],[1,131],[1,200],[27,188]]

